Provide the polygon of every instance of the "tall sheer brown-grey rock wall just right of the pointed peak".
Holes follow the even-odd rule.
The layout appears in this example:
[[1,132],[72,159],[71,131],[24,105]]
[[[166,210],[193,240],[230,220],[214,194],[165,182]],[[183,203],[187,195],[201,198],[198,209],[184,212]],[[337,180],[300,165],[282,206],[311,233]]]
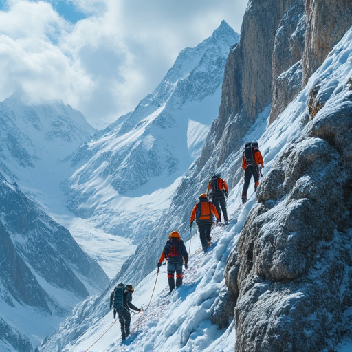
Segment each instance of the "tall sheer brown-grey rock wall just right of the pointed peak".
[[215,168],[223,164],[271,103],[275,34],[288,7],[288,0],[252,0],[248,4],[239,45],[233,48],[225,67],[219,118],[203,147],[199,171],[210,155]]

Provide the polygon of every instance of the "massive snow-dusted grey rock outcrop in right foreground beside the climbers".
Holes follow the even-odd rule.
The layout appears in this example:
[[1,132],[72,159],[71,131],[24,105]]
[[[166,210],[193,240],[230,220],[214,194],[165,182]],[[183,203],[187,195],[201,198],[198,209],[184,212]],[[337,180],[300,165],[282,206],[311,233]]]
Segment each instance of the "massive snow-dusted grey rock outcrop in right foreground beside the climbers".
[[236,351],[335,351],[351,333],[351,38],[294,100],[302,131],[263,179],[228,257]]

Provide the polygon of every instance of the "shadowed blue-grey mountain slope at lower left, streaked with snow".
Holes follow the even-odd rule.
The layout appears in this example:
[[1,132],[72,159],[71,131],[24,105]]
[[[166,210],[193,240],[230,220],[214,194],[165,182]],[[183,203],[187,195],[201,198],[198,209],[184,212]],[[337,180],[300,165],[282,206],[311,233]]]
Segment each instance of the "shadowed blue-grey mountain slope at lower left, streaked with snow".
[[0,351],[33,351],[108,278],[71,234],[0,174]]

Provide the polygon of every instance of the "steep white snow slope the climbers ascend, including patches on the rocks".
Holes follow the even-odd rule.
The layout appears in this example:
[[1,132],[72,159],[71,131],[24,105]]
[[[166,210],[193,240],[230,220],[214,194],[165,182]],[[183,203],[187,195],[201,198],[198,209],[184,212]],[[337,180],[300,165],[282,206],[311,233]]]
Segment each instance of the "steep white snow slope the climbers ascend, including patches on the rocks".
[[[338,43],[329,54],[320,69],[311,76],[305,89],[298,94],[296,99],[278,116],[275,122],[267,126],[267,129],[263,129],[265,124],[259,119],[246,136],[245,140],[259,139],[259,145],[261,146],[265,162],[263,181],[265,187],[269,187],[270,182],[274,182],[273,185],[276,185],[277,177],[275,177],[275,171],[281,167],[280,163],[287,157],[288,153],[292,153],[292,151],[297,148],[297,152],[295,152],[297,155],[305,155],[305,153],[302,154],[301,152],[307,150],[314,151],[320,144],[325,143],[322,139],[320,142],[317,142],[319,138],[311,137],[310,134],[313,133],[312,131],[318,131],[327,137],[330,136],[333,138],[331,142],[336,142],[338,144],[337,148],[340,148],[342,140],[339,140],[339,135],[336,135],[337,129],[340,128],[338,124],[339,117],[342,118],[342,121],[347,122],[347,127],[351,124],[351,41],[352,30],[349,30],[340,43]],[[310,94],[318,86],[318,94],[316,95],[316,102],[319,103],[317,105],[318,113],[311,119],[309,118],[309,110],[311,108],[309,102]],[[340,111],[340,113],[334,115],[334,111]],[[261,118],[265,121],[267,116],[268,113],[266,113],[266,115],[264,113]],[[331,122],[330,129],[325,129],[325,124],[329,119]],[[327,126],[329,126],[329,124]],[[347,136],[348,133],[350,133],[350,131],[344,131],[344,137]],[[343,151],[343,153],[345,153],[347,162],[349,162],[351,158],[350,152]],[[307,155],[310,154],[308,153]],[[331,155],[327,155],[327,159],[329,159],[330,156]],[[334,157],[334,155],[331,157]],[[225,179],[230,180],[233,177],[230,170],[232,170],[236,163],[239,164],[240,158],[241,150],[233,151],[232,155],[230,155],[221,168]],[[335,164],[336,160],[334,162]],[[311,161],[314,162],[314,159],[311,159]],[[292,163],[292,170],[295,170],[294,172],[303,172],[303,176],[305,176],[304,168],[301,167],[297,170],[294,161]],[[190,168],[188,173],[181,180],[180,187],[182,187],[182,184],[190,181],[197,184],[206,184],[208,170],[206,170],[205,167],[205,169],[195,177],[194,170],[196,164],[197,163]],[[287,167],[289,168],[289,166]],[[308,170],[309,168],[307,168],[307,171]],[[320,180],[323,182],[324,178],[329,176],[330,172],[331,170],[328,168],[321,170],[321,172],[316,170],[314,173],[309,173],[309,177],[316,177],[314,181]],[[347,172],[349,173],[350,171]],[[341,177],[345,177],[344,175],[347,175],[347,173],[342,173]],[[310,189],[307,181],[307,176],[305,176],[300,178],[300,181],[297,182],[295,185],[296,196],[300,195],[300,192],[307,192],[307,190]],[[289,179],[287,179],[287,182],[289,182]],[[157,258],[166,241],[168,232],[171,230],[179,230],[181,225],[185,222],[185,219],[189,217],[189,212],[187,211],[188,206],[184,203],[183,198],[174,197],[169,212],[160,220],[161,224],[159,228],[156,228],[153,232],[153,236],[148,236],[144,240],[144,243],[137,248],[135,256],[122,267],[123,272],[116,276],[100,296],[91,298],[79,307],[76,307],[74,314],[65,321],[63,327],[45,342],[43,346],[44,351],[56,351],[56,349],[62,349],[63,351],[87,349],[106,331],[107,333],[105,333],[104,336],[100,338],[99,342],[97,342],[94,347],[91,347],[89,351],[163,351],[164,349],[171,351],[203,351],[209,349],[210,351],[210,348],[212,351],[233,351],[235,343],[233,323],[230,323],[227,329],[218,331],[214,328],[214,325],[211,324],[210,318],[214,320],[214,322],[219,322],[217,312],[221,311],[221,305],[223,302],[226,302],[226,300],[221,300],[221,294],[219,294],[219,292],[221,289],[224,289],[223,294],[226,292],[223,281],[223,268],[228,257],[227,254],[234,248],[237,240],[236,235],[241,232],[250,209],[254,205],[258,207],[252,184],[248,192],[249,201],[245,206],[241,206],[241,188],[242,182],[240,181],[230,191],[228,209],[232,221],[230,222],[229,230],[226,228],[217,228],[214,230],[214,239],[217,239],[217,241],[214,243],[213,250],[206,254],[205,257],[203,257],[200,252],[197,253],[200,247],[199,239],[197,239],[197,237],[192,239],[193,250],[190,251],[190,269],[185,274],[185,285],[175,291],[171,296],[166,296],[166,291],[163,292],[163,288],[166,289],[167,284],[166,274],[162,273],[164,274],[164,278],[159,278],[159,280],[164,281],[158,285],[157,294],[155,294],[151,307],[146,311],[145,318],[141,318],[137,322],[135,321],[136,319],[134,319],[133,327],[136,334],[132,336],[130,342],[128,342],[129,344],[120,346],[117,335],[118,327],[115,325],[107,331],[112,322],[111,312],[109,312],[108,309],[109,294],[113,286],[121,280],[129,281],[129,283],[140,282],[135,289],[135,304],[146,305],[148,303],[148,298],[150,298],[151,290],[153,289],[155,272],[152,272],[150,276],[146,276],[146,274],[155,268]],[[197,188],[194,188],[195,192],[196,189]],[[261,190],[260,188],[259,194],[262,198],[264,197],[263,192],[268,192],[268,190],[270,190],[270,188],[265,188],[265,190]],[[278,188],[276,187],[275,191],[277,190]],[[314,192],[314,189],[312,189],[311,192]],[[182,201],[177,201],[178,199]],[[274,201],[274,203],[270,203],[273,207],[278,207],[276,210],[280,210],[280,217],[283,218],[289,217],[292,211],[291,206],[283,206],[287,199],[287,197],[283,197],[276,202]],[[190,199],[188,199],[188,201],[190,201]],[[268,204],[267,207],[270,207],[270,204]],[[192,204],[190,204],[189,208],[191,206]],[[188,214],[184,215],[184,213]],[[182,217],[184,217],[184,219]],[[276,221],[276,217],[272,217],[272,219],[267,220],[266,225],[269,229],[270,225],[272,225],[272,229],[274,230],[278,227]],[[168,232],[165,231],[166,228],[168,228]],[[164,231],[162,231],[162,229],[164,229]],[[187,239],[189,232],[186,230],[182,232],[182,237]],[[351,229],[349,229],[347,234],[350,232]],[[241,234],[239,236],[241,236]],[[294,236],[293,233],[292,236]],[[323,243],[324,241],[325,243]],[[325,245],[325,248],[327,248],[339,245],[341,240],[338,239],[337,233],[335,232],[332,239],[325,239],[324,241],[320,244],[323,247]],[[344,246],[344,243],[342,243],[342,246]],[[346,245],[346,247],[343,248],[349,252],[349,255],[351,254],[351,245]],[[258,251],[263,249],[265,249],[265,243],[263,243],[262,248],[258,248]],[[338,250],[338,252],[340,250]],[[331,252],[331,254],[327,255],[330,259],[335,260],[333,256],[338,252]],[[331,256],[332,254],[333,256]],[[325,272],[321,267],[324,263],[325,257],[318,256],[314,261],[311,274],[318,274],[320,271],[320,274],[324,275]],[[349,261],[349,263],[351,263],[351,261]],[[349,295],[347,292],[349,289],[349,270],[348,265],[346,265],[344,268],[346,275],[342,278],[343,282],[338,293],[340,298]],[[314,276],[307,276],[307,280],[311,280],[311,282],[314,283]],[[266,281],[269,282],[270,280]],[[261,301],[266,302],[268,309],[270,307],[277,308],[276,313],[279,313],[279,311],[285,311],[285,307],[292,307],[294,302],[300,307],[300,302],[302,302],[303,297],[309,296],[304,294],[304,292],[296,292],[296,294],[292,296],[287,296],[289,300],[278,300],[278,296],[273,292],[268,294],[268,292],[265,291],[267,289],[266,287],[269,286],[267,286],[267,283],[261,282],[259,276],[257,284],[252,281],[250,284],[250,287],[254,290],[253,295],[260,294],[261,296],[256,297],[255,300],[258,306],[255,306],[254,303],[251,311],[246,312],[246,316],[249,317],[254,316],[256,313],[258,313],[260,317],[261,312],[263,313],[261,306],[259,306]],[[325,287],[323,286],[323,281],[320,280],[316,285],[322,285],[320,288]],[[159,295],[158,292],[160,292]],[[279,296],[283,297],[283,294],[284,292],[280,292]],[[313,294],[313,291],[311,294]],[[219,300],[217,300],[217,296],[220,297]],[[241,297],[239,299],[241,299]],[[340,320],[336,320],[338,325],[331,327],[332,333],[335,329],[340,327],[341,322],[347,330],[351,331],[348,311],[343,310],[347,307],[347,303],[348,302],[344,303],[344,306],[342,305],[340,307],[341,311],[337,314],[337,316],[340,316]],[[243,314],[245,307],[245,303],[242,303],[242,306],[237,308],[238,314]],[[160,310],[162,310],[161,313]],[[227,310],[232,311],[232,309]],[[274,315],[270,316],[270,319],[275,320],[275,317],[274,312]],[[294,317],[292,316],[292,318]],[[326,318],[329,318],[329,321],[333,321],[334,319],[333,314],[327,314]],[[316,327],[319,327],[322,322],[320,318],[314,316],[314,314],[311,314],[309,319],[309,324],[316,322]],[[276,319],[275,321],[279,323],[281,320],[278,321],[278,319]],[[309,327],[311,326],[314,325],[309,325]],[[294,325],[289,325],[289,329],[293,328]],[[250,332],[250,329],[247,332]],[[311,330],[307,331],[307,338],[309,338],[309,333],[311,333]],[[81,336],[81,334],[83,335]],[[336,336],[337,339],[335,339],[328,333],[327,338],[331,339],[331,348],[337,350],[338,347],[336,343],[340,336]],[[249,339],[247,341],[250,342],[251,340]],[[347,349],[348,347],[342,347],[341,351],[346,351],[345,348]],[[248,351],[250,351],[250,349],[248,349]]]

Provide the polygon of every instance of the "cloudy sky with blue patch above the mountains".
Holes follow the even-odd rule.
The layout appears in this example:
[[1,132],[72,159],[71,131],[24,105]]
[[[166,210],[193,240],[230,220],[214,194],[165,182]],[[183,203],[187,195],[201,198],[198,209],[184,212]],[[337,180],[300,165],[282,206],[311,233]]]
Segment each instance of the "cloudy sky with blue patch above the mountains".
[[96,129],[133,111],[185,47],[248,0],[0,0],[0,101],[63,100]]

